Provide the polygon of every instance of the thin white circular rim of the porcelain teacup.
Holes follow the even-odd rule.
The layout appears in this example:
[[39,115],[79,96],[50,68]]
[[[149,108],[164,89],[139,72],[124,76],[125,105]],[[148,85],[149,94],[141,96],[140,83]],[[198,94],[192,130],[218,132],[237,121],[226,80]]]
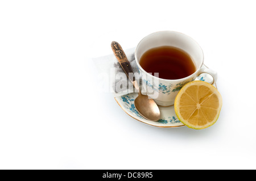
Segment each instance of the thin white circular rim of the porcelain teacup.
[[[187,77],[184,77],[184,78],[180,78],[180,79],[164,79],[164,78],[155,77],[154,75],[148,73],[146,70],[144,70],[144,69],[142,68],[142,66],[139,64],[139,61],[138,61],[138,58],[137,58],[137,49],[138,49],[138,45],[139,45],[146,37],[148,37],[148,36],[150,36],[150,35],[152,35],[152,34],[154,34],[154,33],[159,33],[159,32],[174,32],[174,33],[179,33],[179,34],[181,34],[181,35],[183,35],[183,36],[189,37],[191,40],[193,40],[193,41],[198,45],[198,47],[199,47],[200,50],[201,50],[201,53],[202,53],[202,56],[203,56],[203,57],[202,57],[203,60],[202,60],[202,62],[201,62],[201,65],[199,66],[199,68],[198,68],[193,74],[188,75]],[[141,41],[139,41],[139,43],[137,44],[137,46],[136,46],[136,48],[135,48],[134,57],[135,57],[135,61],[136,61],[136,63],[137,63],[137,66],[139,67],[139,69],[143,70],[144,73],[146,73],[147,75],[150,75],[150,76],[153,77],[153,78],[159,78],[159,79],[162,80],[162,81],[182,81],[182,80],[185,80],[185,79],[187,79],[187,78],[189,78],[189,77],[193,77],[193,75],[197,74],[197,72],[201,69],[201,67],[202,67],[203,64],[204,64],[204,52],[203,52],[203,49],[201,48],[201,46],[199,45],[199,43],[197,43],[196,40],[192,39],[191,36],[185,35],[184,33],[181,33],[181,32],[178,32],[178,31],[168,31],[168,30],[156,31],[156,32],[153,32],[153,33],[148,34],[147,36],[144,36],[143,39],[141,39]]]

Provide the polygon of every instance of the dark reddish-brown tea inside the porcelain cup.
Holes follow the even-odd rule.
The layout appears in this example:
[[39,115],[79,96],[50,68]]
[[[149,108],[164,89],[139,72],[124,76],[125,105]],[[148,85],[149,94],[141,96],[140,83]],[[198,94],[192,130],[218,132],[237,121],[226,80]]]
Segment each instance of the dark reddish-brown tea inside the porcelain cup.
[[180,79],[195,73],[196,66],[187,52],[163,46],[147,50],[139,64],[148,73],[159,73],[159,78]]

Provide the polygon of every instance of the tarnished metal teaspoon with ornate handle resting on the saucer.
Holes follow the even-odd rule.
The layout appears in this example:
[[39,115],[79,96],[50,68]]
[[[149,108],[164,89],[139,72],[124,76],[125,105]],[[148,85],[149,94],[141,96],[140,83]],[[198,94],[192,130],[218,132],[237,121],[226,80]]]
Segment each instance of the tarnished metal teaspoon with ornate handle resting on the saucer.
[[131,69],[130,62],[127,60],[126,54],[123,51],[121,45],[119,45],[119,43],[117,43],[116,41],[112,41],[111,48],[114,52],[115,57],[117,57],[117,60],[121,65],[123,71],[125,71],[127,77],[133,83],[133,86],[138,92],[138,97],[134,100],[135,108],[145,119],[151,121],[158,121],[160,119],[160,110],[158,108],[158,105],[153,99],[148,98],[147,95],[141,94],[138,82],[133,76],[133,70]]

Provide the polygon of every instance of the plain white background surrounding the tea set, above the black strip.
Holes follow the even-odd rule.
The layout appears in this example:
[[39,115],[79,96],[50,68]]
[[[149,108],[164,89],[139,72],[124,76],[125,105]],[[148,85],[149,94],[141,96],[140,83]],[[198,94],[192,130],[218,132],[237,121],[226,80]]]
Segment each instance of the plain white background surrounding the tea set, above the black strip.
[[[0,169],[256,169],[254,1],[0,1]],[[203,130],[132,119],[99,89],[111,41],[183,32],[218,72]]]

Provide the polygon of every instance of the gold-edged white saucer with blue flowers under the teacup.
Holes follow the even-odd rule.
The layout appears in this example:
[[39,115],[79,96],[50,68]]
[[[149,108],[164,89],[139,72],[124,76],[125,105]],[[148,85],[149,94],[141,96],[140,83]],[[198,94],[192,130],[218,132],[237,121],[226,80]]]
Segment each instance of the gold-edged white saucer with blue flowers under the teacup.
[[[203,66],[206,67],[207,66]],[[200,74],[199,77],[195,79],[195,81],[205,81],[208,83],[213,82],[213,78],[211,75],[203,73]],[[213,85],[217,88],[216,84]],[[180,87],[181,89],[181,87]],[[160,119],[158,121],[150,121],[147,119],[144,119],[139,112],[136,110],[134,106],[134,100],[137,98],[138,93],[130,93],[122,96],[115,97],[115,100],[119,104],[119,106],[125,111],[129,116],[133,117],[135,120],[141,121],[144,124],[148,124],[154,127],[160,127],[160,128],[175,128],[175,127],[183,127],[184,124],[180,122],[179,119],[177,119],[176,113],[174,111],[174,105],[163,107],[158,106],[160,110]]]

